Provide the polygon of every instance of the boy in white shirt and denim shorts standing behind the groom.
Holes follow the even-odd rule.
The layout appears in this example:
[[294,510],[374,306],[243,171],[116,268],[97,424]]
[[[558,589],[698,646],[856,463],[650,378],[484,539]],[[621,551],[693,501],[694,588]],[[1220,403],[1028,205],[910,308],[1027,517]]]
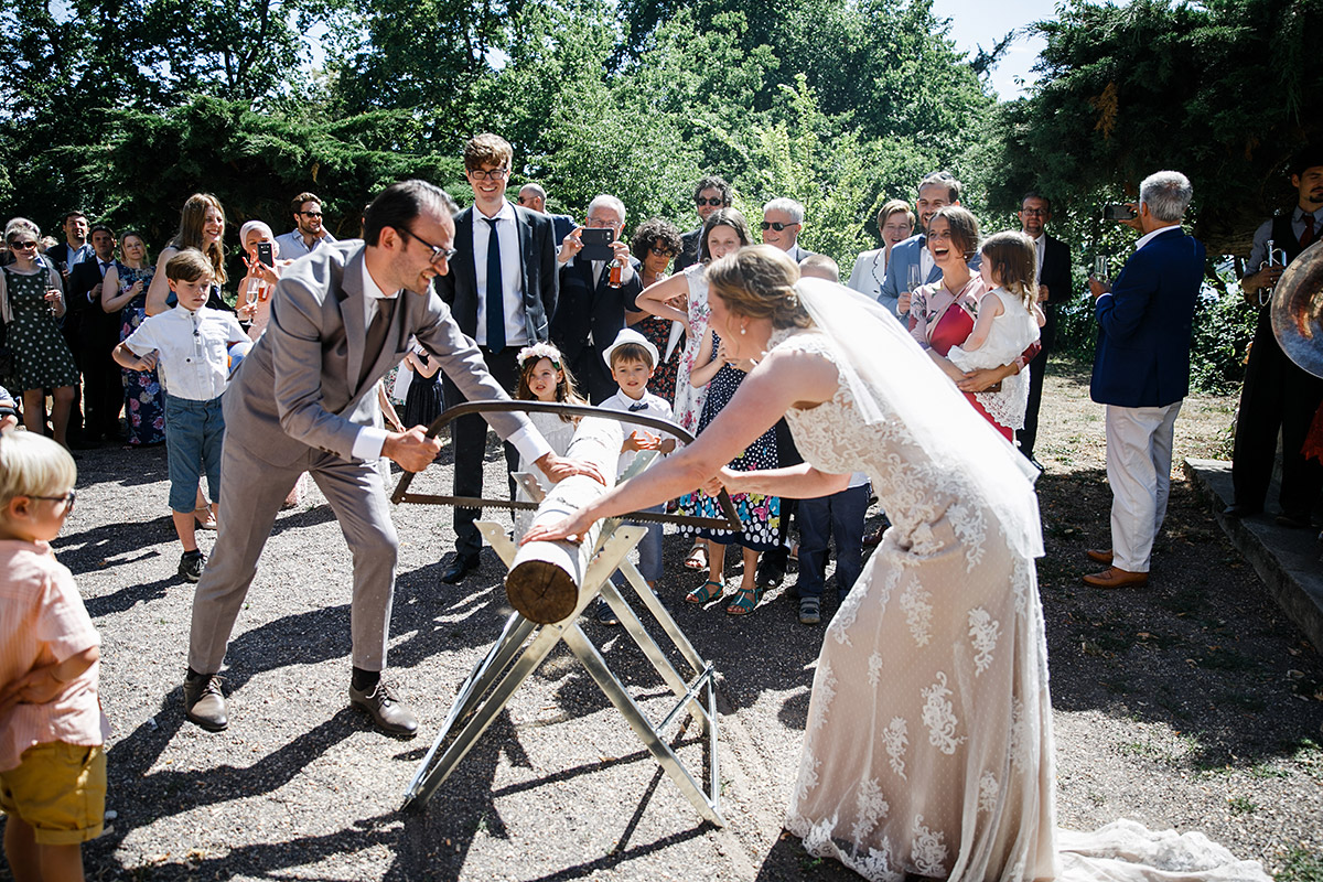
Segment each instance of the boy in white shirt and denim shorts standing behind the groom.
[[197,547],[193,518],[198,481],[205,471],[214,516],[221,489],[221,394],[229,382],[229,348],[249,337],[233,315],[204,305],[212,263],[201,251],[185,249],[171,258],[165,278],[179,303],[143,321],[112,354],[130,370],[160,370],[165,386],[169,508],[184,546],[179,574],[197,582],[206,562]]

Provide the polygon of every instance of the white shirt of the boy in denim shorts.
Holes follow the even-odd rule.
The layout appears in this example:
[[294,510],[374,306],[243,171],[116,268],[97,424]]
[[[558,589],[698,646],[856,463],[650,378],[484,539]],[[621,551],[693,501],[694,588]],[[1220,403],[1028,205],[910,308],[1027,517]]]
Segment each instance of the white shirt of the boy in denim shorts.
[[167,394],[212,401],[229,385],[230,344],[247,339],[247,332],[229,312],[206,307],[189,312],[176,305],[148,316],[124,340],[124,346],[139,357],[152,349],[160,353],[156,370]]

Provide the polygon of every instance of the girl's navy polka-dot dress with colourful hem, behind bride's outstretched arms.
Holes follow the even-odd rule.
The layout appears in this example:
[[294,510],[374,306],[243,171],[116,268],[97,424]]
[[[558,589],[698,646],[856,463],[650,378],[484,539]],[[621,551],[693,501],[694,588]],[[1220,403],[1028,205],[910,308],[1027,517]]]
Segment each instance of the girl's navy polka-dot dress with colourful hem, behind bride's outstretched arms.
[[[713,335],[712,352],[721,345],[721,339]],[[721,370],[712,378],[708,386],[708,399],[703,403],[703,415],[699,418],[699,434],[716,419],[721,409],[734,398],[736,390],[744,382],[745,373],[730,365],[721,365]],[[730,460],[730,468],[737,472],[753,472],[759,468],[777,468],[777,430],[765,431],[758,440],[749,444],[740,456]],[[730,501],[740,512],[740,522],[744,530],[738,534],[729,530],[700,529],[699,536],[705,540],[714,540],[722,545],[744,546],[755,551],[770,551],[777,547],[777,536],[781,529],[781,497],[762,496],[761,493],[732,493]],[[681,502],[685,508],[691,505],[700,517],[724,517],[716,497],[704,493],[692,493]]]

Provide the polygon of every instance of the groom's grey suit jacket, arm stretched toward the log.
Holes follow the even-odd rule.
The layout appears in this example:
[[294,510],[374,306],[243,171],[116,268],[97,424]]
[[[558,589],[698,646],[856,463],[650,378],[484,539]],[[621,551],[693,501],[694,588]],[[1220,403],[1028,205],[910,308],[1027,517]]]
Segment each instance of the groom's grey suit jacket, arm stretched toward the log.
[[[380,424],[376,385],[415,336],[441,361],[470,401],[508,398],[460,331],[450,308],[431,291],[401,291],[381,354],[363,383],[364,325],[361,239],[323,245],[292,263],[271,298],[266,333],[239,364],[225,393],[225,435],[273,465],[291,465],[311,450],[353,460],[364,426]],[[508,438],[528,419],[492,414]]]

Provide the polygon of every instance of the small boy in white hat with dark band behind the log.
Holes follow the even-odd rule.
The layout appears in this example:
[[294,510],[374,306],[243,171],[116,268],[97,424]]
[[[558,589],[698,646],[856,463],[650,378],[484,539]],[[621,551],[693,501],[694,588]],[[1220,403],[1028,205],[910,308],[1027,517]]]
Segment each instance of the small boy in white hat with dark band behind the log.
[[[602,353],[602,360],[611,368],[611,378],[619,387],[614,395],[603,401],[598,407],[605,410],[623,410],[647,417],[671,419],[671,405],[665,398],[648,391],[648,380],[658,364],[658,348],[638,331],[623,328],[615,335],[615,341]],[[617,475],[634,464],[634,459],[640,450],[656,450],[663,455],[675,450],[675,438],[664,438],[658,430],[644,428],[635,423],[623,423],[626,436],[620,446],[620,460],[617,465]],[[648,509],[660,512],[662,506]],[[656,591],[658,579],[662,578],[662,525],[648,524],[647,536],[639,542],[639,573],[647,581],[648,587]],[[611,577],[617,587],[624,584],[624,577],[617,573]],[[597,620],[602,624],[619,624],[611,607],[598,598]]]

